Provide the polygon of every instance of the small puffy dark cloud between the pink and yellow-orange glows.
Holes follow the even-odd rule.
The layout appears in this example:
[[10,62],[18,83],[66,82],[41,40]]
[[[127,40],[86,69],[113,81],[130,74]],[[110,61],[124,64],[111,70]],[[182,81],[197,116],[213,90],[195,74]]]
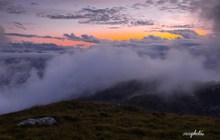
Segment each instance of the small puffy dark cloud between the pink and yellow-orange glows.
[[73,40],[73,41],[83,41],[83,42],[89,42],[89,43],[99,43],[100,40],[95,38],[94,36],[89,36],[89,35],[81,35],[81,37],[78,37],[76,35],[72,34],[64,34],[64,36],[68,40]]

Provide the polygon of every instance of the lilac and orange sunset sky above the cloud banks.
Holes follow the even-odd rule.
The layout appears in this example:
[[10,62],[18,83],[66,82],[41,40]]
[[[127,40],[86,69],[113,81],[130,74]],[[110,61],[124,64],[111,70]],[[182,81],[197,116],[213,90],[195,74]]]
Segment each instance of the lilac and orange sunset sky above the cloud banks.
[[198,6],[198,0],[0,0],[0,25],[11,42],[94,43],[80,40],[81,35],[103,40],[149,35],[174,39],[181,35],[170,30],[211,32],[212,23],[201,20]]

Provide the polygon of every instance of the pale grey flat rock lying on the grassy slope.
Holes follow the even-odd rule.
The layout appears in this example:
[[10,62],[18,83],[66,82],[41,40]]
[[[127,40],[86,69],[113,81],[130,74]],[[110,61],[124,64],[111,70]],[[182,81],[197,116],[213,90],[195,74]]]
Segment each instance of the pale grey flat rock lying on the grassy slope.
[[52,117],[44,117],[44,118],[35,118],[35,119],[27,119],[17,124],[17,126],[26,126],[26,125],[53,125],[57,123],[57,121]]

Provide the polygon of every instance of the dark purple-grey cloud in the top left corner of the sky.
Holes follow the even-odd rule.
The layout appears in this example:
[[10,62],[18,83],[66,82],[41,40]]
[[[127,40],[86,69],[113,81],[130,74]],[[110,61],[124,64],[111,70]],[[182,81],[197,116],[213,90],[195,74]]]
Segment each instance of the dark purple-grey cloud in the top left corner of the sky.
[[12,1],[1,0],[0,1],[0,11],[9,13],[9,14],[23,14],[26,13],[23,6],[20,4],[15,4]]

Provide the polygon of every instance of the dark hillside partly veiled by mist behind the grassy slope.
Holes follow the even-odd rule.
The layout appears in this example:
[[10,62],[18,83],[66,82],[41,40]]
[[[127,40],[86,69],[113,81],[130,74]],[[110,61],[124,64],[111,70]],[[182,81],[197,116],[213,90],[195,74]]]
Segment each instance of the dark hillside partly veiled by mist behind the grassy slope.
[[178,114],[220,116],[220,83],[198,83],[192,91],[158,91],[157,82],[128,81],[96,93],[85,100],[129,103],[142,108]]

